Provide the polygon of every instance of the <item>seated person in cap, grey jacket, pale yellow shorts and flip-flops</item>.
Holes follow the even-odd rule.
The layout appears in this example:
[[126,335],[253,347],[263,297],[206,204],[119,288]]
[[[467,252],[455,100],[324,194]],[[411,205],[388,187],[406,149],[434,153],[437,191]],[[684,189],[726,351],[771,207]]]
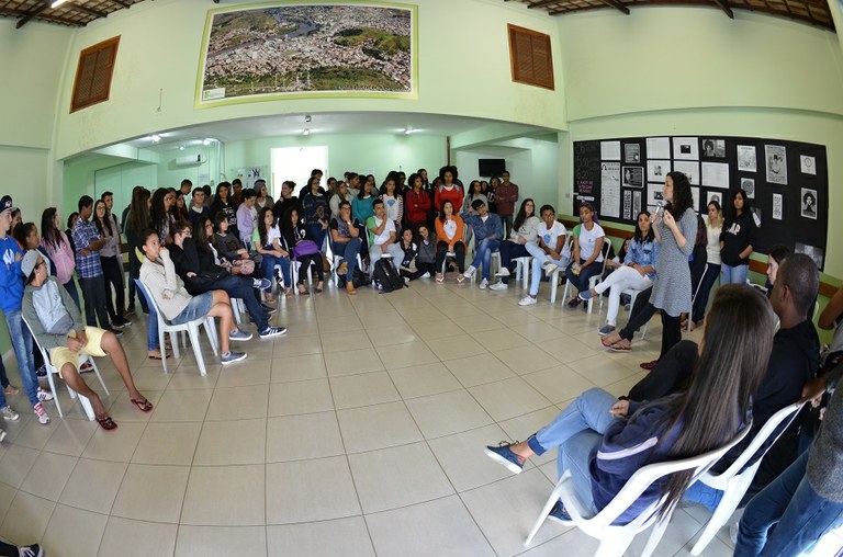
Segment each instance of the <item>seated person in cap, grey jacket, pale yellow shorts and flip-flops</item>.
[[74,298],[47,274],[44,259],[36,250],[23,257],[21,271],[26,277],[23,294],[23,315],[38,344],[49,351],[49,360],[58,375],[71,389],[91,401],[97,422],[105,430],[117,427],[100,396],[91,390],[79,375],[82,353],[111,357],[128,390],[128,399],[143,412],[150,412],[153,405],[135,387],[128,368],[126,353],[110,331],[85,323]]

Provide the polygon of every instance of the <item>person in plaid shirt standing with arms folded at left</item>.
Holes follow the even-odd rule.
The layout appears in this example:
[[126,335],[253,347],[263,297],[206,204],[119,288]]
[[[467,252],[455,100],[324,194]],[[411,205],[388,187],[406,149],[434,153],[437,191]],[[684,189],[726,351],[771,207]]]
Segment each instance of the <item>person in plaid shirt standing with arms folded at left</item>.
[[100,250],[105,240],[100,239],[100,231],[91,220],[92,214],[93,200],[90,195],[82,195],[79,198],[79,218],[74,225],[72,237],[76,246],[76,273],[79,275],[79,285],[85,297],[85,320],[89,327],[97,327],[99,318],[101,329],[120,337],[123,331],[111,328],[105,310],[105,277],[100,262]]

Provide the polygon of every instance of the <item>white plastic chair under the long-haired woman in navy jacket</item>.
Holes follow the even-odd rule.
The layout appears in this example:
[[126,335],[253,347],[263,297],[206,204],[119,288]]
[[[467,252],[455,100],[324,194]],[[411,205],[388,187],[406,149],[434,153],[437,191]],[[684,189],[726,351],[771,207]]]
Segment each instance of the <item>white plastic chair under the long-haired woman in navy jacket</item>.
[[595,556],[621,557],[623,552],[629,547],[629,544],[632,543],[632,538],[634,538],[638,533],[643,532],[652,525],[653,530],[650,533],[650,538],[641,554],[641,557],[649,557],[662,539],[662,535],[664,534],[667,524],[671,522],[671,515],[673,514],[674,509],[671,509],[662,519],[659,519],[659,511],[664,503],[664,498],[653,502],[629,524],[614,525],[612,522],[615,522],[617,518],[620,516],[648,487],[650,487],[650,485],[660,478],[670,474],[690,469],[694,470],[694,478],[698,478],[730,448],[740,443],[750,431],[751,425],[752,424],[750,423],[744,427],[732,441],[715,451],[709,451],[708,453],[690,458],[650,464],[639,468],[632,477],[629,478],[618,495],[615,496],[615,499],[596,514],[594,514],[580,499],[576,489],[573,486],[573,481],[571,480],[571,473],[570,470],[566,470],[550,492],[550,497],[544,503],[544,507],[524,545],[527,546],[532,542],[532,538],[547,520],[550,510],[555,502],[561,499],[562,503],[565,505],[565,510],[573,519],[574,525],[587,535],[600,541],[600,545],[597,548]]

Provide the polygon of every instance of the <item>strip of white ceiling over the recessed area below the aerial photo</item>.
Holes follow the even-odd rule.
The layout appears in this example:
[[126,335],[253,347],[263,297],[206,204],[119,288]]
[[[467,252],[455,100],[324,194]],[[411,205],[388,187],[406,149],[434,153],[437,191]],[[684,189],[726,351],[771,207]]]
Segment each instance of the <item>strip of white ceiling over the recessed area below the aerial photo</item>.
[[[228,120],[201,124],[180,129],[156,132],[160,140],[156,144],[150,136],[123,141],[135,148],[153,150],[178,149],[180,145],[201,141],[205,138],[223,143],[300,135],[304,128],[312,135],[319,134],[403,134],[409,126],[413,134],[448,136],[468,132],[498,121],[450,116],[443,114],[418,114],[402,112],[336,112],[311,114],[311,122],[305,122],[305,114],[284,114],[256,118]],[[536,128],[536,133],[551,132]]]

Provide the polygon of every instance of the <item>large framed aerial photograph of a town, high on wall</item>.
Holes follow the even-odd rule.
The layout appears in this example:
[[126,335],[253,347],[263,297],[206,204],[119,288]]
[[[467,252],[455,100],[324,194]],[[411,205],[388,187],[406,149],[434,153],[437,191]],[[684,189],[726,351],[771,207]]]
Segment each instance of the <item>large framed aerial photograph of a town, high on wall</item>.
[[256,4],[210,10],[199,107],[301,96],[417,96],[417,7]]

